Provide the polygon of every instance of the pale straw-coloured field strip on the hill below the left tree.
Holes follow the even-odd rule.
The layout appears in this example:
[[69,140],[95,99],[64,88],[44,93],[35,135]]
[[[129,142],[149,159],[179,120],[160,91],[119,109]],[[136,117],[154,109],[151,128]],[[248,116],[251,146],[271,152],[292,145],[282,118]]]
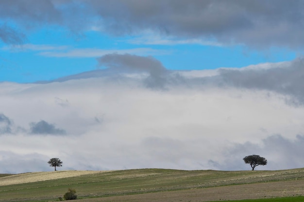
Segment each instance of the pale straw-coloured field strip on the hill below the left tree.
[[68,177],[77,177],[108,171],[50,171],[50,172],[30,172],[1,177],[0,186],[17,185],[23,183],[55,180]]

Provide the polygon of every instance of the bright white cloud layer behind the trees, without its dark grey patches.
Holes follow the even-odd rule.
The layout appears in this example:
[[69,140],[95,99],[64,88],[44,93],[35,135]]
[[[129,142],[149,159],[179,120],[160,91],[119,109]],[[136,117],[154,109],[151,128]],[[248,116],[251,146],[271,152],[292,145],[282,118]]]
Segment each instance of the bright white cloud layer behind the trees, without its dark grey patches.
[[[243,155],[252,152],[271,162],[263,169],[301,166],[295,161],[273,163],[278,155],[273,151],[280,153],[274,145],[261,149],[263,140],[273,134],[291,142],[303,134],[304,109],[286,105],[283,95],[181,85],[156,91],[142,86],[138,78],[129,79],[1,83],[0,104],[6,106],[1,112],[14,120],[15,127],[29,130],[30,123],[47,120],[67,134],[2,134],[0,161],[5,167],[0,172],[49,171],[51,157],[64,162],[63,170],[244,170],[248,168],[242,162]],[[68,105],[58,104],[58,98],[68,100]],[[97,122],[96,117],[102,121]],[[251,147],[254,150],[239,147],[237,154],[231,150],[246,142],[258,146]],[[280,154],[286,158],[295,155],[284,150]],[[27,156],[27,168],[22,166],[23,156]],[[10,164],[13,159],[14,164]]]

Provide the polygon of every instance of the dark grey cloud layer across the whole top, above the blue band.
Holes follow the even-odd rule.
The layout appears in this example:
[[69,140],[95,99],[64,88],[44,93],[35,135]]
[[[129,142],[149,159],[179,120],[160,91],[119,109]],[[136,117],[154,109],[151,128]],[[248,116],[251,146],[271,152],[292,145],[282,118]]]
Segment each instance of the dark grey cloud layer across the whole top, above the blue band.
[[[2,0],[0,18],[24,31],[51,24],[74,32],[153,31],[258,48],[302,48],[303,9],[302,0]],[[5,43],[20,38],[6,29],[0,30]]]

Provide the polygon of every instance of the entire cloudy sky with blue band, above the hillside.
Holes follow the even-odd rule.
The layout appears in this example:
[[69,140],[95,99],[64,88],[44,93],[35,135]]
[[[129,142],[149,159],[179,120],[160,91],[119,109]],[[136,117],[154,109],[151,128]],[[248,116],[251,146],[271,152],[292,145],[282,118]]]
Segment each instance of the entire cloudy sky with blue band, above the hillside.
[[304,167],[302,0],[1,0],[0,173]]

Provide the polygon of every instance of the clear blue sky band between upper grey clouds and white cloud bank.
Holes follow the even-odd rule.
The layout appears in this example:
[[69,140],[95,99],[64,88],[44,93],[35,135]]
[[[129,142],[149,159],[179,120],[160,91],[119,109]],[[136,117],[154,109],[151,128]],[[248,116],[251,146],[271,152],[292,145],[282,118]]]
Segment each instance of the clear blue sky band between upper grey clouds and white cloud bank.
[[[28,36],[26,44],[1,43],[1,81],[35,82],[51,80],[99,68],[96,58],[105,53],[134,53],[153,56],[171,70],[202,70],[244,67],[263,62],[295,59],[296,52],[284,48],[256,50],[245,46],[185,44],[135,44],[140,36],[114,37],[97,31],[82,36],[68,31],[39,30]],[[177,42],[175,42],[177,43]]]

